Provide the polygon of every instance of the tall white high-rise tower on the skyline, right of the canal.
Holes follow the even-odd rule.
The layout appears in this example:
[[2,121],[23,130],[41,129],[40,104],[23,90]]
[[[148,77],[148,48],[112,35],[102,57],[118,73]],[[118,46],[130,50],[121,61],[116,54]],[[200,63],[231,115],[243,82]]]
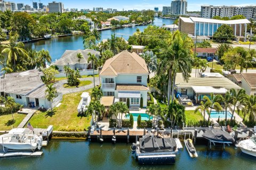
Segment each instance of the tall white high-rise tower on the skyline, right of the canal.
[[186,0],[173,0],[171,3],[171,13],[185,15],[187,13],[188,2]]

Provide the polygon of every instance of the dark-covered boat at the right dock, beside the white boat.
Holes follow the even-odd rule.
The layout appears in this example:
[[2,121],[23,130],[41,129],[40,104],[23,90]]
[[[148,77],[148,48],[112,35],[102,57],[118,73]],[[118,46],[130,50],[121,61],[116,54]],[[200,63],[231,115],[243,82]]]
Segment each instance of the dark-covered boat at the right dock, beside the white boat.
[[235,139],[225,131],[220,129],[212,129],[202,134],[202,136],[206,139],[221,142],[221,143],[234,143]]

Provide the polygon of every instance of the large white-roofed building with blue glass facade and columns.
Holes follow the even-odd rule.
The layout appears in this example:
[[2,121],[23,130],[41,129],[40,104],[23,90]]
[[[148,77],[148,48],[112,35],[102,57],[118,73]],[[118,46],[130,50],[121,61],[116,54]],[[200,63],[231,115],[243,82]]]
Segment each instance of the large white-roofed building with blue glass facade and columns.
[[233,29],[234,36],[237,38],[237,40],[244,40],[246,39],[244,35],[246,34],[247,24],[249,23],[250,21],[247,19],[225,21],[190,16],[189,18],[179,18],[178,29],[181,32],[190,33],[193,36],[197,35],[212,37],[222,24],[227,24]]

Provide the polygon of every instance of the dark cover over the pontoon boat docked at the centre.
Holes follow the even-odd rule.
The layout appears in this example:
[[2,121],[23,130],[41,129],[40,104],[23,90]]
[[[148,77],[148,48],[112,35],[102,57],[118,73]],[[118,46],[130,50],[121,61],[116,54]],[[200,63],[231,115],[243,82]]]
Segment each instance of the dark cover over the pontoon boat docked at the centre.
[[173,138],[140,138],[141,152],[161,152],[176,150],[176,142]]

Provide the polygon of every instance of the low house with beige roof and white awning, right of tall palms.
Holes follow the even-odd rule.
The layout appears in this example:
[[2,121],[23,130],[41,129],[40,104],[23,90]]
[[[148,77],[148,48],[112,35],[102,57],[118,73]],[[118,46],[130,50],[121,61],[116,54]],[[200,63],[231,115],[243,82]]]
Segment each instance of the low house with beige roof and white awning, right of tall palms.
[[[192,73],[191,76],[193,75]],[[212,93],[214,95],[224,95],[227,90],[241,89],[241,87],[225,77],[190,77],[186,81],[181,73],[177,73],[175,84],[175,94],[178,98],[181,97],[179,100],[187,98],[196,104],[199,104],[204,96],[210,96]]]

